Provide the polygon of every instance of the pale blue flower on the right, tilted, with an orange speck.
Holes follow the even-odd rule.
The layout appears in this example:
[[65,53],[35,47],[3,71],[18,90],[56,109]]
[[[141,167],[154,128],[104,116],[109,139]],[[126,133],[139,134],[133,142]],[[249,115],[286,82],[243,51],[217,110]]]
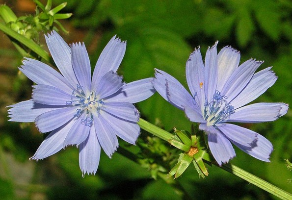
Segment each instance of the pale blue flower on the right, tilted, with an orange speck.
[[173,76],[157,69],[152,83],[165,100],[184,110],[191,122],[200,123],[219,165],[235,157],[231,143],[268,162],[272,144],[252,130],[229,123],[269,122],[285,115],[285,103],[245,105],[262,95],[277,77],[271,67],[255,73],[262,61],[249,59],[239,66],[239,51],[227,46],[217,54],[216,46],[217,42],[207,50],[205,65],[199,48],[190,54],[186,81],[191,95]]

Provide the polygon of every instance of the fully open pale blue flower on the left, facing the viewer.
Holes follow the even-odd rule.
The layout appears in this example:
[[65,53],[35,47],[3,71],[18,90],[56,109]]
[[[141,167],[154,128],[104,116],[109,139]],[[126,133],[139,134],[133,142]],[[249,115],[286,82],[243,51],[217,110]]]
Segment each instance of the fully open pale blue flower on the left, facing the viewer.
[[26,58],[20,71],[37,85],[31,100],[9,106],[9,121],[35,122],[40,132],[52,131],[30,159],[43,159],[77,145],[82,174],[95,174],[101,148],[111,157],[118,147],[117,136],[135,144],[140,127],[133,103],[155,93],[152,78],[122,82],[116,71],[126,42],[115,36],[101,53],[92,78],[84,44],[69,47],[55,31],[46,36],[46,42],[61,74]]

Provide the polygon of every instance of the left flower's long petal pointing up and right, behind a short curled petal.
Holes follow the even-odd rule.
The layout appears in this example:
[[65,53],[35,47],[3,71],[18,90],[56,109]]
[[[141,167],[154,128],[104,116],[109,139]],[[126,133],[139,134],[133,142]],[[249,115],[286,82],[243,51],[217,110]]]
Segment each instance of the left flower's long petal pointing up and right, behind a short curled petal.
[[92,91],[97,91],[102,77],[109,71],[114,73],[119,68],[126,51],[126,42],[113,36],[99,56],[91,82]]

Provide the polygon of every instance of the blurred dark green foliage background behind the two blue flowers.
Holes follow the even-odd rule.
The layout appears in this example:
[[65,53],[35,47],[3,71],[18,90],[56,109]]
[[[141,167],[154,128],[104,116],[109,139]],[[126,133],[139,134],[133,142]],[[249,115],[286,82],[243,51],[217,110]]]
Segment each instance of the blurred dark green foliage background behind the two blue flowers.
[[[54,0],[53,5],[63,2]],[[92,66],[113,35],[127,40],[119,69],[126,82],[154,76],[154,68],[158,68],[186,86],[185,64],[190,52],[200,45],[204,55],[208,46],[219,40],[218,51],[231,45],[241,51],[241,63],[255,57],[265,60],[261,69],[273,66],[278,80],[257,102],[292,104],[291,0],[67,0],[67,3],[64,12],[74,15],[64,24],[84,32],[87,47],[96,43],[95,35],[99,34],[98,46],[90,50]],[[66,36],[64,38],[66,40]],[[18,65],[7,70],[15,73],[14,89],[7,91],[12,98],[10,103],[30,98],[31,83],[16,75]],[[1,104],[4,106],[7,104]],[[179,130],[190,129],[183,111],[158,94],[137,103],[137,107],[143,118],[168,131],[174,126]],[[290,193],[292,184],[287,180],[292,178],[292,173],[287,170],[284,159],[292,160],[291,116],[289,111],[273,123],[243,125],[272,142],[271,163],[259,161],[238,149],[237,157],[232,160],[240,168]],[[149,138],[151,135],[146,132],[141,133],[135,147],[120,141],[120,146],[133,153],[133,157],[125,153],[127,151],[118,151],[120,153],[115,153],[110,160],[103,153],[97,174],[82,178],[76,148],[61,150],[37,163],[29,162],[27,158],[45,136],[38,134],[33,124],[4,123],[1,126],[0,197],[4,200],[277,199],[209,166],[209,176],[205,179],[199,178],[194,168],[188,168],[177,180],[163,179],[181,152],[157,138]],[[128,155],[132,161],[121,154]],[[28,166],[24,169],[31,174],[24,176],[26,171],[19,169],[24,166]]]

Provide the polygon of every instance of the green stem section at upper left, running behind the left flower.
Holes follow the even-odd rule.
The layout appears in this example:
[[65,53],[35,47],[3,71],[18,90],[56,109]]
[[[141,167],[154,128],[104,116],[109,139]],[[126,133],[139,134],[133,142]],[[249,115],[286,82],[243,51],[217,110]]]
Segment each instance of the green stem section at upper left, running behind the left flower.
[[41,56],[43,59],[49,61],[50,56],[47,51],[43,50],[38,44],[33,42],[32,40],[26,38],[25,36],[15,32],[14,30],[10,29],[6,25],[0,23],[0,30],[3,31],[8,36],[14,38],[18,42],[27,46],[30,50],[34,51],[36,54]]

